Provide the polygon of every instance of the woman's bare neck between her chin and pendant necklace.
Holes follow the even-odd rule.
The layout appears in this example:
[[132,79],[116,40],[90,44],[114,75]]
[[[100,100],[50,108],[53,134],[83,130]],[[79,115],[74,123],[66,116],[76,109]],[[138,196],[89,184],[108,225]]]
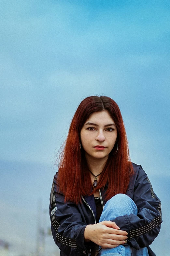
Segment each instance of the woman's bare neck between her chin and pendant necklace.
[[103,171],[105,163],[108,159],[108,156],[106,156],[105,158],[92,158],[87,153],[85,153],[85,157],[90,171],[95,176],[97,176],[99,173]]

